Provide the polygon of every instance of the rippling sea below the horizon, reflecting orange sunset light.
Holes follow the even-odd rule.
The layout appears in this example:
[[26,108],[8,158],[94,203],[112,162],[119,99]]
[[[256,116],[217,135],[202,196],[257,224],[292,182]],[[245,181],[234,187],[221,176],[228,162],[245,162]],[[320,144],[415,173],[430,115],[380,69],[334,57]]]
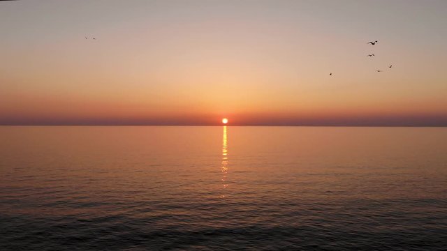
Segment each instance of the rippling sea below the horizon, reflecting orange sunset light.
[[447,128],[0,127],[0,250],[446,250]]

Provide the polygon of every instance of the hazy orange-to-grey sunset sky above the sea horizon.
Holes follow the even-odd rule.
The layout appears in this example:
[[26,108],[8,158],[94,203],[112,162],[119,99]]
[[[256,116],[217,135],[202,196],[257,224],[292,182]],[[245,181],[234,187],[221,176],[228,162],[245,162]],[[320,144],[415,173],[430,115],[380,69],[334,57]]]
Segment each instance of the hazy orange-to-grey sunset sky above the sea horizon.
[[0,1],[0,125],[447,126],[446,13],[444,0]]

